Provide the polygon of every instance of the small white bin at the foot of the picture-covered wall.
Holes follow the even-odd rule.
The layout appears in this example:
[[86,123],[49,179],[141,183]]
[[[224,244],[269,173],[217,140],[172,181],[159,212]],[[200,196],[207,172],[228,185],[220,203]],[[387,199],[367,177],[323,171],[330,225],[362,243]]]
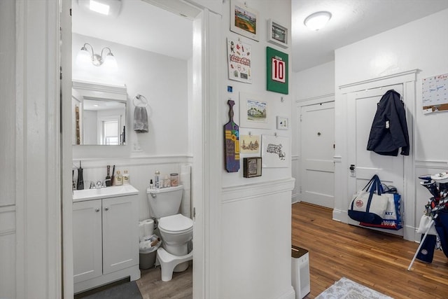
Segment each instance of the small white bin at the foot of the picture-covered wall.
[[293,245],[291,248],[291,259],[291,280],[295,291],[295,299],[302,299],[311,291],[307,249]]

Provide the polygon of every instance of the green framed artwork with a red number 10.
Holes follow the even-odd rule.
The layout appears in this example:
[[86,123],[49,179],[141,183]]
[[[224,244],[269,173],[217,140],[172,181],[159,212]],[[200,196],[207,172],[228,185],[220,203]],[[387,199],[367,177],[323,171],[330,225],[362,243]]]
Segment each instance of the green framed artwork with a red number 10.
[[266,47],[266,90],[288,95],[288,54]]

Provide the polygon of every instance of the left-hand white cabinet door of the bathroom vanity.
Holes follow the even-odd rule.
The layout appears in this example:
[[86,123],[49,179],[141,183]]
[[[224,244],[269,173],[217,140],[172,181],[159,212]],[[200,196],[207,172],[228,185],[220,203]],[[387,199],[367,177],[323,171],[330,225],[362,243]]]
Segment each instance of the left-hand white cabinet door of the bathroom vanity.
[[102,275],[102,202],[73,203],[73,280]]

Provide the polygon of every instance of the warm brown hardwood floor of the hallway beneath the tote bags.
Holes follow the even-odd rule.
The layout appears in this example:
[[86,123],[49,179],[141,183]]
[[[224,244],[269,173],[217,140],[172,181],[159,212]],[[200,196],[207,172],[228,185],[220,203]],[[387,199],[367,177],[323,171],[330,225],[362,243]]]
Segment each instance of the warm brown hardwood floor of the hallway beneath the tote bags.
[[419,244],[383,232],[332,220],[332,209],[293,204],[292,242],[309,251],[311,293],[341,277],[400,298],[448,298],[448,259],[436,251],[433,263],[415,261]]

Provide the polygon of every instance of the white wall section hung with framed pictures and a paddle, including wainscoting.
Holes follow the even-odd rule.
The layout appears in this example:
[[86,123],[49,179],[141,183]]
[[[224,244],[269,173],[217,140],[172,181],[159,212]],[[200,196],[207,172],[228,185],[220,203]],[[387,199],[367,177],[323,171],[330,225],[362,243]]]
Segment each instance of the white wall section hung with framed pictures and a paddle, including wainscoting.
[[[258,22],[259,41],[230,32],[230,1],[223,3],[221,48],[221,76],[223,90],[220,99],[221,115],[219,123],[228,123],[228,99],[235,101],[234,120],[240,125],[239,134],[251,132],[253,135],[279,134],[288,137],[292,144],[291,130],[276,130],[276,123],[269,129],[241,127],[239,121],[239,92],[259,95],[260,99],[272,105],[272,115],[286,116],[291,120],[293,102],[293,81],[291,63],[288,65],[289,94],[283,95],[266,90],[266,47],[275,48],[289,54],[290,48],[280,48],[266,40],[267,19],[281,20],[290,28],[290,1],[246,1],[249,8],[260,14]],[[280,22],[280,21],[279,21]],[[231,81],[226,64],[227,40],[240,39],[252,47],[252,83]],[[289,36],[290,37],[290,36]],[[233,92],[226,92],[231,85]],[[283,98],[283,102],[282,102]],[[223,134],[217,132],[217,134]],[[223,144],[220,144],[223,148]],[[287,154],[291,157],[290,146]],[[291,167],[263,168],[262,176],[247,179],[243,177],[241,154],[239,172],[222,170],[223,197],[221,204],[221,286],[219,298],[293,298],[290,281],[290,198],[293,188]],[[260,154],[258,155],[260,156]]]

